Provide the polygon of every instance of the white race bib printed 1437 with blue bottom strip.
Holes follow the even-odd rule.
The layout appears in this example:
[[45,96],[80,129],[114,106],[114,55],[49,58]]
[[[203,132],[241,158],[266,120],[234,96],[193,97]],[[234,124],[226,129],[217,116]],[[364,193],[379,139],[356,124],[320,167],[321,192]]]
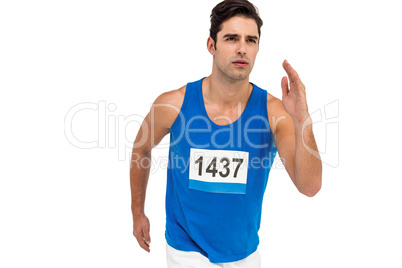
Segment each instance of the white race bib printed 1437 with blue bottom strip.
[[245,194],[248,152],[190,149],[189,188],[213,193]]

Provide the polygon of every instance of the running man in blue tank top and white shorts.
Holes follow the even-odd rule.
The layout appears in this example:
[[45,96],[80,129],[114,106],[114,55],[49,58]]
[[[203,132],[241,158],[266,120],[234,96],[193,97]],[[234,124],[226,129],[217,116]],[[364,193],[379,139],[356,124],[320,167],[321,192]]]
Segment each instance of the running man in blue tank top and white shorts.
[[150,162],[152,148],[170,133],[168,267],[260,267],[257,232],[276,152],[301,193],[312,197],[321,188],[322,164],[296,71],[283,62],[289,82],[282,78],[282,100],[249,82],[261,26],[250,2],[219,3],[207,41],[211,75],[156,98],[134,141],[133,233],[149,252],[150,167],[138,163]]

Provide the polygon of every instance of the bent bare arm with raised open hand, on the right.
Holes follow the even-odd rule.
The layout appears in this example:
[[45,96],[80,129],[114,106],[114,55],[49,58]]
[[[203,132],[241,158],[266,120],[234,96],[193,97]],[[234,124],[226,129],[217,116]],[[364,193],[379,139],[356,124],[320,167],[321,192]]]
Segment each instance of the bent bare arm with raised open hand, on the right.
[[278,153],[296,188],[312,197],[321,189],[322,163],[308,113],[306,92],[296,71],[284,62],[288,73],[282,79],[282,102],[274,101],[277,120],[275,142]]

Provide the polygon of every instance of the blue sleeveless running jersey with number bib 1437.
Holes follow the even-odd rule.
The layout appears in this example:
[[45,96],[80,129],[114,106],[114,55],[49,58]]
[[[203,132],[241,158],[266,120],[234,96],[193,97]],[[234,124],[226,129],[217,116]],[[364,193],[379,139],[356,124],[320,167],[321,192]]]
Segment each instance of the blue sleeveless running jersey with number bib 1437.
[[167,243],[213,263],[233,262],[257,250],[261,208],[276,155],[267,115],[267,91],[253,85],[235,122],[207,115],[202,81],[188,83],[170,128],[166,189]]

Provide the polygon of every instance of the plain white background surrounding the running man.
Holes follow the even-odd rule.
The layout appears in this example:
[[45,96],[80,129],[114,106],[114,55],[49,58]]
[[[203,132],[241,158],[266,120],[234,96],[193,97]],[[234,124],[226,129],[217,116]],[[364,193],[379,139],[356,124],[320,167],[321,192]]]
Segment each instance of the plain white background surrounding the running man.
[[[166,266],[166,169],[153,168],[148,185],[147,253],[132,236],[128,156],[156,97],[210,74],[218,2],[1,2],[1,267]],[[287,59],[310,112],[339,104],[330,127],[324,113],[314,126],[328,162],[315,197],[280,165],[271,171],[263,267],[401,267],[398,1],[253,3],[264,26],[250,81],[281,98]],[[96,148],[66,137],[66,115],[80,103],[110,105],[107,120],[86,110],[70,126]]]

